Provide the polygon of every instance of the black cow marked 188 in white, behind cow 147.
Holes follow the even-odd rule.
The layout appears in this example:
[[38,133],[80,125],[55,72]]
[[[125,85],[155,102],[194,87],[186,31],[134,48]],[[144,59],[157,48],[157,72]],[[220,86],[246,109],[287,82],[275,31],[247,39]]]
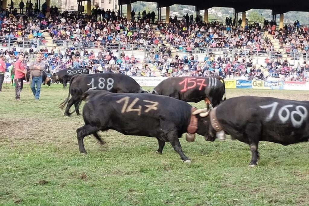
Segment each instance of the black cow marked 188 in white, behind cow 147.
[[[70,108],[74,104],[76,114],[79,115],[79,104],[82,95],[88,90],[107,90],[113,93],[144,93],[142,87],[131,77],[125,74],[98,73],[98,74],[78,74],[71,78],[69,95],[61,104],[60,108],[66,106],[65,116],[70,116]],[[71,99],[70,99],[71,94]]]

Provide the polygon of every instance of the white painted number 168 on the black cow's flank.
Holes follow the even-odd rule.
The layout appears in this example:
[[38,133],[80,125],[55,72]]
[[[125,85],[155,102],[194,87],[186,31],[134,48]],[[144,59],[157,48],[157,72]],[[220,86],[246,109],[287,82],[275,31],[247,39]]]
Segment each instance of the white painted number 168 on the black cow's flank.
[[[271,108],[269,115],[266,117],[265,121],[268,122],[271,119],[273,119],[273,116],[275,114],[275,111],[276,111],[278,104],[279,103],[277,103],[277,102],[273,102],[273,103],[268,104],[268,105],[260,106],[262,109]],[[280,107],[280,109],[278,111],[279,120],[284,124],[289,119],[291,119],[292,125],[295,128],[298,128],[298,127],[302,126],[303,121],[306,120],[306,118],[308,116],[308,111],[307,111],[306,107],[304,107],[302,105],[298,105],[298,106],[295,107],[294,111],[290,112],[290,110],[288,109],[290,107],[294,107],[294,106],[292,104],[288,104],[288,105],[284,105],[284,106]],[[295,115],[299,116],[300,119],[296,120]]]

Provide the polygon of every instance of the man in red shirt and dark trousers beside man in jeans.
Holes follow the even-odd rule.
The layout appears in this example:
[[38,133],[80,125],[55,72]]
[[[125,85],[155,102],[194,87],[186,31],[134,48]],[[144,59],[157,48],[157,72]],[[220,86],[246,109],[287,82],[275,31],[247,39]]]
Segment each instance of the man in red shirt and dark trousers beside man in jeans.
[[23,78],[27,74],[25,64],[23,63],[24,56],[19,55],[18,60],[15,62],[15,76],[14,81],[16,84],[15,87],[15,99],[19,101],[20,92],[23,89]]

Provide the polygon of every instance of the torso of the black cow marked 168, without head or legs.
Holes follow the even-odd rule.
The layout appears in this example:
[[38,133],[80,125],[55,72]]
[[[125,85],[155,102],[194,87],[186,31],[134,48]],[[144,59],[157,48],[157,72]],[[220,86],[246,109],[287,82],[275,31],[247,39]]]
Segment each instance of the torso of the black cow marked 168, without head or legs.
[[216,116],[224,130],[241,141],[246,126],[252,124],[259,128],[260,140],[285,145],[308,139],[308,111],[308,101],[241,96],[221,103]]

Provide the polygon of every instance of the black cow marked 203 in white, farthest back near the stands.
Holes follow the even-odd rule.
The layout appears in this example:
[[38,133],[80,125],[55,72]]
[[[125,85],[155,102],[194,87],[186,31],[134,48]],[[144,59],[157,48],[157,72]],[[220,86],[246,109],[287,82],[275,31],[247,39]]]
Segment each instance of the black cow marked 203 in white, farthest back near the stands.
[[63,88],[66,88],[66,83],[70,82],[71,78],[76,74],[89,74],[88,69],[62,69],[59,72],[56,72],[52,75],[51,83],[60,82],[63,84]]

